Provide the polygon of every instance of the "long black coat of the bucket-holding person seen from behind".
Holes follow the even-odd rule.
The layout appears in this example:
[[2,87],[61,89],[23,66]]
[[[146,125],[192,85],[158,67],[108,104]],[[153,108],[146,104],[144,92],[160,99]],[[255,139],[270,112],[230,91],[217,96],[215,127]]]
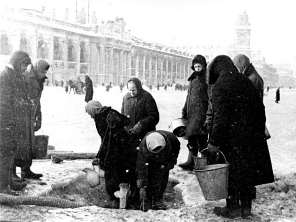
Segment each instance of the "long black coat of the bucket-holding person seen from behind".
[[220,69],[218,76],[213,87],[209,143],[220,147],[230,164],[229,185],[274,182],[264,134],[264,105],[257,89],[234,67]]

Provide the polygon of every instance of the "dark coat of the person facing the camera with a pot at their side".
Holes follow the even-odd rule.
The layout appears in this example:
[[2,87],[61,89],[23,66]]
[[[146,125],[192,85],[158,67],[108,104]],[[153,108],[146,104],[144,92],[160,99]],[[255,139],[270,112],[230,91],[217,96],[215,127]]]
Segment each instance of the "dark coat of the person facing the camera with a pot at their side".
[[[196,72],[195,72],[196,73]],[[182,117],[187,119],[186,137],[208,134],[204,126],[208,110],[208,85],[205,74],[191,74],[186,102],[182,110]]]

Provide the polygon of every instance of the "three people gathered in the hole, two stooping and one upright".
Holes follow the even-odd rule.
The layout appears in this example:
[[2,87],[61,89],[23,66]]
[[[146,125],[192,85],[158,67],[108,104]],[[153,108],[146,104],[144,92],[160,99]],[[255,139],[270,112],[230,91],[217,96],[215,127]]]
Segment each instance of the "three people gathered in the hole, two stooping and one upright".
[[180,142],[168,131],[156,130],[159,111],[141,81],[131,77],[121,113],[89,101],[85,111],[95,120],[102,139],[93,164],[105,171],[106,190],[113,201],[120,183],[130,184],[129,207],[166,209],[162,201],[169,170],[177,163]]

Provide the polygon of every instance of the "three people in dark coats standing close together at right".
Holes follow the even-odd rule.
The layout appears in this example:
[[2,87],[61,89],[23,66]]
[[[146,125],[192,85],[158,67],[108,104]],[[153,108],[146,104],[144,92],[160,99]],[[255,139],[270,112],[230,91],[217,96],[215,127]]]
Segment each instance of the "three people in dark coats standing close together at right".
[[[182,117],[187,120],[188,158],[179,166],[194,168],[200,152],[208,164],[229,163],[226,206],[216,215],[251,215],[256,185],[274,182],[266,140],[263,80],[246,55],[231,60],[217,56],[209,64],[202,55],[192,61],[193,73]],[[268,131],[267,131],[268,132]]]

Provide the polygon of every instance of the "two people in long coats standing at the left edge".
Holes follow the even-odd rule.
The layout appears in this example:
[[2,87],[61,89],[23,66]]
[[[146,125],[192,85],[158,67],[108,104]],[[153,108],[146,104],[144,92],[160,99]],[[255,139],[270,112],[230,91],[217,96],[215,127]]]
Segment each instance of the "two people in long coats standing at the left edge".
[[[50,65],[32,63],[24,51],[15,51],[0,73],[0,193],[19,195],[27,179],[42,174],[31,171],[36,153],[35,131],[41,127],[40,97]],[[16,174],[21,168],[21,177]]]

